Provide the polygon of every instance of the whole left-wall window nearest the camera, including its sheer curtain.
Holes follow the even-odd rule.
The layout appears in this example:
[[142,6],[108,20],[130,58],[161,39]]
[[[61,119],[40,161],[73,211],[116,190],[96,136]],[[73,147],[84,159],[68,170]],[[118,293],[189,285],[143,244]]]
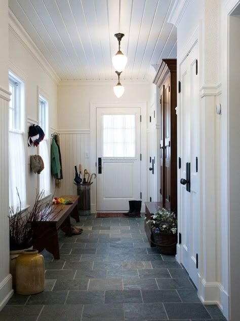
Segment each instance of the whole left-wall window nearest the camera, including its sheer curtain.
[[[26,161],[24,145],[24,82],[9,72],[9,203],[26,206]],[[17,189],[17,190],[16,190]]]

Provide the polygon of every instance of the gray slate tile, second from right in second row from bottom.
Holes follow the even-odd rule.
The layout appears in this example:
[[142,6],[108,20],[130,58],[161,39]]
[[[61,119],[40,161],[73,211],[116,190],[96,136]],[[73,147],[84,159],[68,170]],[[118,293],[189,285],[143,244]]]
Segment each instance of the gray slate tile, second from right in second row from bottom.
[[142,290],[144,303],[181,302],[176,290]]

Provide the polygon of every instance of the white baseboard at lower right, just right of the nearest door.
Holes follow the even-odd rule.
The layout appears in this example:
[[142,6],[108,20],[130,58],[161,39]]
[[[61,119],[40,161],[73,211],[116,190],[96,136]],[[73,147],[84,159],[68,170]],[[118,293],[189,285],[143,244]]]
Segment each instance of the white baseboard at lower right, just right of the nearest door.
[[201,291],[199,299],[204,304],[217,304],[224,316],[228,319],[228,294],[219,282],[206,282],[202,279],[200,282]]

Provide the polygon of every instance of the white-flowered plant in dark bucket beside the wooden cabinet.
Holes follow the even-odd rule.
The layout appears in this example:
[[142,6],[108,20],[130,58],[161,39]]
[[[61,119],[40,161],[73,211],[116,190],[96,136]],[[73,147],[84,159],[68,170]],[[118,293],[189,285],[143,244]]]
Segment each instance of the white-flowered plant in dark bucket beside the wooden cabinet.
[[176,255],[177,244],[177,216],[166,208],[158,207],[156,213],[151,215],[151,232],[154,243],[159,252],[167,255]]

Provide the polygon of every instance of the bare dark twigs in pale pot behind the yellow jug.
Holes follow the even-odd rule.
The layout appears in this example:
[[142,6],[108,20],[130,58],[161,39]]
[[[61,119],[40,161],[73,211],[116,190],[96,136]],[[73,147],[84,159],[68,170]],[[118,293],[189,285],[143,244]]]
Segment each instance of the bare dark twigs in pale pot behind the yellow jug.
[[32,222],[44,221],[53,213],[52,200],[43,201],[44,191],[36,194],[30,210],[22,210],[18,190],[17,195],[20,205],[16,210],[13,207],[9,208],[10,273],[13,276],[13,287],[15,286],[16,259],[24,250],[32,248]]

